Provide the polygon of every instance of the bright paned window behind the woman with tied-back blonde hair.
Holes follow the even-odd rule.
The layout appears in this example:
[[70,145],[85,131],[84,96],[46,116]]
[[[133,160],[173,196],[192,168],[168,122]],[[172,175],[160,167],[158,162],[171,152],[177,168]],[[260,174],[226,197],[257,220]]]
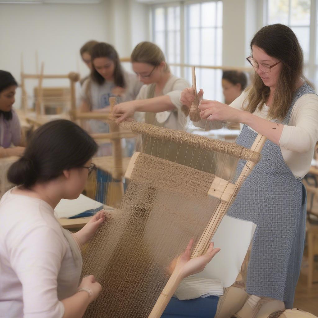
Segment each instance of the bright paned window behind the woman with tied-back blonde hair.
[[[169,64],[222,65],[222,1],[184,1],[152,8],[152,40]],[[190,67],[171,66],[191,83]],[[222,72],[196,69],[197,88],[204,97],[222,100]]]

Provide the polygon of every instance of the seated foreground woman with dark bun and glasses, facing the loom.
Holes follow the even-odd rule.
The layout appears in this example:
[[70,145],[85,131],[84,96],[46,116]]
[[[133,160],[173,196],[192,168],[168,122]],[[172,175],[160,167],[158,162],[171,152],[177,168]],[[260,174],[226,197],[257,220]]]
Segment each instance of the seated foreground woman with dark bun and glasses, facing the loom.
[[[94,140],[71,121],[38,128],[13,163],[8,179],[17,186],[0,201],[0,315],[6,318],[80,318],[101,291],[84,277],[81,247],[104,221],[100,211],[78,232],[54,216],[61,199],[76,199],[93,171]],[[219,251],[190,260],[191,243],[178,266],[183,277],[201,271]],[[189,261],[190,260],[190,261]]]

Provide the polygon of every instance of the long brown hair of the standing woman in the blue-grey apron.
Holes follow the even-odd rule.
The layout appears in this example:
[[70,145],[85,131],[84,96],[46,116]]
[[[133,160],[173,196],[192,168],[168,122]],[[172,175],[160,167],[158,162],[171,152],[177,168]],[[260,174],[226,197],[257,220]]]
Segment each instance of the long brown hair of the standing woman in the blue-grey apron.
[[[303,75],[303,53],[295,33],[286,25],[272,24],[261,28],[251,41],[269,56],[280,60],[282,69],[273,95],[273,103],[269,108],[269,116],[283,119],[291,106],[296,85],[300,78],[309,85]],[[248,91],[248,105],[245,110],[253,113],[259,106],[262,109],[270,93],[270,88],[265,86],[256,72],[252,78],[252,86]]]

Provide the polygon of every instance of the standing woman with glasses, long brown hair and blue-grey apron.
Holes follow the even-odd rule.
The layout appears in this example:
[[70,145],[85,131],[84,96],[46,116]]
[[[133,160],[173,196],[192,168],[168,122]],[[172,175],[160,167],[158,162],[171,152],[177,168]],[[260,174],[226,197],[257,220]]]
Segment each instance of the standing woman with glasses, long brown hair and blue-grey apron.
[[[251,41],[247,58],[252,85],[225,105],[202,100],[203,124],[244,124],[237,143],[250,148],[256,135],[267,141],[262,159],[248,176],[228,214],[257,225],[247,270],[251,295],[236,317],[252,317],[270,299],[292,308],[305,240],[307,174],[318,140],[318,97],[303,74],[303,53],[294,32],[267,25]],[[184,91],[190,107],[193,92]],[[237,174],[243,162],[239,162]],[[267,298],[264,298],[267,297]],[[284,302],[284,303],[283,303]],[[280,305],[279,305],[280,306]],[[277,308],[280,309],[280,308]]]

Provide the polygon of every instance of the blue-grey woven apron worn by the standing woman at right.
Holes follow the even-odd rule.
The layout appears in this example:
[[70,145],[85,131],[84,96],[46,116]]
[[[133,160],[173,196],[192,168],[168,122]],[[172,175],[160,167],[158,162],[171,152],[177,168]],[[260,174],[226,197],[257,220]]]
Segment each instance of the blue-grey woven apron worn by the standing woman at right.
[[[315,92],[307,84],[296,90],[282,124],[288,124],[295,102],[308,93]],[[251,148],[256,136],[244,125],[236,142]],[[292,308],[305,242],[306,190],[285,163],[278,145],[267,140],[261,154],[227,214],[257,225],[246,292],[284,301],[286,308]],[[244,164],[239,161],[237,176]]]

